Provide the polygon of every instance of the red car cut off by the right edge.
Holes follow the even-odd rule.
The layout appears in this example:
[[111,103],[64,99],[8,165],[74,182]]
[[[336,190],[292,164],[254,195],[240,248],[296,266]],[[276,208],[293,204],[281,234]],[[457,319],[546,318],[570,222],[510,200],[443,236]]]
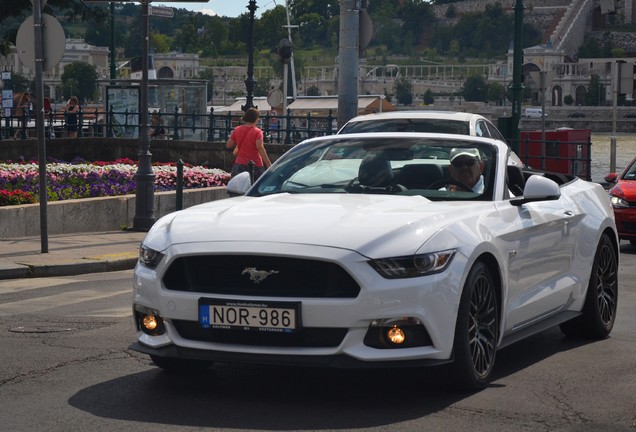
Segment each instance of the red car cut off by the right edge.
[[616,228],[621,240],[636,244],[636,158],[619,176],[611,173],[605,176],[608,183],[616,183],[609,190],[610,201],[616,216]]

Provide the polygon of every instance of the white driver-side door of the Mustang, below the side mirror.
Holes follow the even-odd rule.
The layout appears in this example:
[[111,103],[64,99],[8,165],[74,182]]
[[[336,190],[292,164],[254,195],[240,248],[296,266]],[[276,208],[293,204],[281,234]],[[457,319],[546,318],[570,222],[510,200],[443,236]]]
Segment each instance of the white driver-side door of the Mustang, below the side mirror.
[[501,206],[498,240],[508,253],[503,305],[507,334],[558,312],[571,299],[578,215],[563,196],[521,206],[504,201]]

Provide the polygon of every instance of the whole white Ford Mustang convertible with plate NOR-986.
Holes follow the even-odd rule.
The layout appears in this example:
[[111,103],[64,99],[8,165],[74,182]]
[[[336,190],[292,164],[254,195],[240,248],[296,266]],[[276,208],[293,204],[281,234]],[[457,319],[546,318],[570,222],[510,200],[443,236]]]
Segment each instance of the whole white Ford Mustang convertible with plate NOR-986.
[[524,337],[556,325],[607,337],[619,257],[607,193],[508,165],[509,152],[428,133],[293,147],[244,195],[154,224],[131,348],[170,371],[446,363],[478,389]]

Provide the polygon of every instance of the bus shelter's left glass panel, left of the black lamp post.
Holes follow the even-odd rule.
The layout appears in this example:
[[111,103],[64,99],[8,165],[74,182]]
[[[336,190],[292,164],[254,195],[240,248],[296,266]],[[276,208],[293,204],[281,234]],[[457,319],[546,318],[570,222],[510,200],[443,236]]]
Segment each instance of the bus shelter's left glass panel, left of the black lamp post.
[[116,137],[139,137],[140,105],[139,87],[108,87],[106,109]]

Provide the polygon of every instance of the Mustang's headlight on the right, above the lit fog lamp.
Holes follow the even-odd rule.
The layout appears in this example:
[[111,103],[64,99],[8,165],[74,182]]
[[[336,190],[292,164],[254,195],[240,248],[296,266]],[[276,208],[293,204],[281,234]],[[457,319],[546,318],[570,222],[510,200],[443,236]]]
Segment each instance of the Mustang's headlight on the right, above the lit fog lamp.
[[455,250],[427,254],[382,258],[369,261],[371,267],[386,279],[419,277],[444,271],[450,264]]

